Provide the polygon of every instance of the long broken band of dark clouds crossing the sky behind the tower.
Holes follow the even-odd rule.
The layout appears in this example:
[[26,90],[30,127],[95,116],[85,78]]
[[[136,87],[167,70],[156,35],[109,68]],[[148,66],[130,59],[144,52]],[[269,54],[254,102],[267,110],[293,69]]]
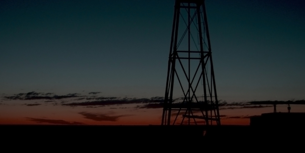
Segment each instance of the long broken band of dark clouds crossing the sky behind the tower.
[[[138,104],[135,108],[163,108],[164,97],[151,97],[151,98],[120,98],[120,97],[100,97],[98,94],[101,92],[90,92],[89,95],[84,96],[80,93],[69,93],[66,95],[56,95],[54,93],[18,93],[14,96],[3,97],[4,100],[46,100],[45,102],[55,102],[55,100],[62,100],[63,106],[111,106],[121,104]],[[71,98],[71,99],[67,99]],[[73,99],[72,99],[73,98]],[[65,100],[65,101],[63,101]],[[69,100],[69,102],[67,101]],[[74,101],[70,101],[74,100]],[[77,102],[78,100],[81,100]],[[182,104],[184,97],[173,99],[172,108],[187,108],[187,104]],[[211,102],[208,101],[208,107]],[[305,100],[289,100],[289,101],[250,101],[250,102],[233,102],[219,101],[220,109],[242,109],[242,108],[263,108],[272,107],[273,104],[305,104]],[[29,104],[28,106],[36,106],[39,104]],[[199,103],[192,102],[192,108],[203,107],[202,101]]]

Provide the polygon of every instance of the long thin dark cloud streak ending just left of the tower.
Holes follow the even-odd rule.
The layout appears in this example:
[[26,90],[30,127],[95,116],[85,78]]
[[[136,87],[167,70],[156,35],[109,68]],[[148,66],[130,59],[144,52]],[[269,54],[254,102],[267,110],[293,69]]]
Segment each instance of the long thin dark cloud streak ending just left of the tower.
[[[86,101],[86,102],[74,102],[69,104],[62,104],[64,106],[108,106],[108,105],[121,105],[121,104],[141,104],[141,103],[160,103],[163,102],[163,97],[152,98],[123,98],[116,99],[117,97],[98,97],[107,98],[106,100]],[[92,98],[96,99],[96,98]]]

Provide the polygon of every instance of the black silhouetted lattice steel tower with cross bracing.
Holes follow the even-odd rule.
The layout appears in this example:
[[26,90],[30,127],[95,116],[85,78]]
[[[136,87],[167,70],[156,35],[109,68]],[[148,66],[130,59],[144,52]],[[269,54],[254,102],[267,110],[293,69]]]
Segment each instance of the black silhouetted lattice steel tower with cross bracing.
[[[186,78],[184,81],[179,78],[181,75]],[[178,86],[182,89],[182,98],[173,99],[173,91],[177,89],[174,88],[175,78],[178,79]],[[177,84],[177,81],[175,83]],[[201,91],[197,88],[199,83],[203,86]],[[198,95],[202,97],[202,100]],[[174,125],[178,122],[183,124],[187,122],[185,118],[188,119],[188,125],[199,123],[209,125],[213,122],[220,125],[204,0],[176,0],[175,2],[161,124]]]

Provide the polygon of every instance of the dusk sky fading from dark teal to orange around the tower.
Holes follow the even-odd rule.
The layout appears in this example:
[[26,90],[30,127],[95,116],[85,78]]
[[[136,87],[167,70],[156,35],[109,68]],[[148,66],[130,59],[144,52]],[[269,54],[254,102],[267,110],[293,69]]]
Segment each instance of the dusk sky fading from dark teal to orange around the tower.
[[[303,0],[206,0],[218,99],[305,98],[304,8]],[[174,0],[2,0],[0,94],[101,92],[103,97],[164,97],[173,13]],[[19,101],[2,100],[0,123],[23,123],[25,117],[43,116],[43,112],[40,116],[26,113],[39,112],[42,105],[28,107],[18,105],[25,103]],[[72,113],[68,106],[43,107],[50,114],[62,109],[61,114],[70,112],[71,116],[89,112]],[[272,111],[271,107],[262,109],[267,108],[241,114]],[[103,109],[94,113],[113,113]],[[25,113],[13,117],[20,110]],[[144,124],[145,117],[136,118],[145,113],[134,112],[130,114],[133,120],[122,116],[129,120],[120,124]],[[237,111],[226,115],[230,113]],[[152,123],[160,122],[161,111],[146,114],[155,114]],[[5,118],[16,122],[4,122]]]

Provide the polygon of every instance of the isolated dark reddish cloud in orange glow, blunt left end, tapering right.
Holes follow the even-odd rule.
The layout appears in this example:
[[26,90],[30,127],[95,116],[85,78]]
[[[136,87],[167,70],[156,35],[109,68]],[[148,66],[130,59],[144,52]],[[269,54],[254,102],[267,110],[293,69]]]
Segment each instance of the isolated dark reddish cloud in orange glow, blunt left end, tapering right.
[[131,115],[109,116],[108,114],[94,114],[88,112],[80,112],[78,114],[83,115],[84,118],[91,119],[94,121],[112,121],[112,122],[116,122],[120,117],[131,116]]

